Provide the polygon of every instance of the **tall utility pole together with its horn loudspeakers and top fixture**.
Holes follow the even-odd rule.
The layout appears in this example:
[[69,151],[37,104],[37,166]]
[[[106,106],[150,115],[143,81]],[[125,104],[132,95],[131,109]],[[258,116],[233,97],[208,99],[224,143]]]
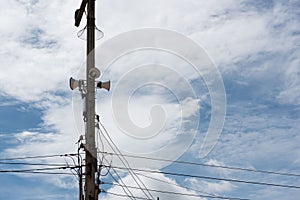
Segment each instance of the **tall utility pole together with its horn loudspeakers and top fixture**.
[[[84,80],[75,80],[72,77],[69,80],[70,89],[74,90],[79,87],[82,97],[85,101],[85,110],[83,111],[83,119],[85,122],[85,184],[84,197],[80,184],[79,200],[98,200],[100,190],[101,166],[97,166],[97,148],[95,145],[95,128],[96,128],[96,112],[95,112],[95,93],[97,88],[110,90],[110,81],[99,81],[96,85],[95,79],[100,76],[100,71],[95,67],[95,1],[82,0],[80,8],[75,11],[75,26],[79,26],[83,13],[87,8],[87,48],[86,48],[86,83]],[[86,84],[86,85],[85,85]],[[86,86],[84,93],[82,87]],[[81,179],[82,180],[82,179]]]

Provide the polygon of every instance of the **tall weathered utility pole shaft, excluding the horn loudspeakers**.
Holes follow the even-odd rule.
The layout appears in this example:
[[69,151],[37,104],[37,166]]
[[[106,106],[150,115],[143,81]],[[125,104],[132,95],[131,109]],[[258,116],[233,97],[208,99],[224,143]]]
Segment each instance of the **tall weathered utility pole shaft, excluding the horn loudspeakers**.
[[97,200],[98,191],[95,184],[97,172],[97,150],[95,146],[95,77],[91,69],[95,67],[95,0],[82,0],[81,6],[75,12],[75,26],[79,26],[87,6],[87,60],[86,60],[86,97],[85,113],[85,200]]

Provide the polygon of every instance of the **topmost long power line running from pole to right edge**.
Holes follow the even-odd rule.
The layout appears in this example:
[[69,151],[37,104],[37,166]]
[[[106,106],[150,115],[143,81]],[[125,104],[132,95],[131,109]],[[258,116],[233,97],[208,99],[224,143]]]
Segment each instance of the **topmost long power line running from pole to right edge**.
[[[108,154],[108,155],[117,155],[116,153],[109,153],[109,152],[100,152],[100,153]],[[146,159],[146,160],[154,160],[154,161],[161,161],[161,162],[174,162],[174,163],[197,165],[197,166],[204,166],[204,167],[216,167],[216,168],[223,168],[223,169],[230,169],[230,170],[240,170],[240,171],[249,171],[249,172],[256,172],[256,173],[265,173],[265,174],[276,174],[276,175],[283,175],[283,176],[300,177],[300,174],[286,173],[286,172],[275,172],[275,171],[257,170],[257,169],[242,168],[242,167],[212,165],[212,164],[196,163],[196,162],[190,162],[190,161],[170,160],[170,159],[163,159],[163,158],[151,158],[151,157],[137,156],[137,155],[126,155],[126,154],[122,154],[122,155],[125,156],[125,157],[139,158],[139,159]]]

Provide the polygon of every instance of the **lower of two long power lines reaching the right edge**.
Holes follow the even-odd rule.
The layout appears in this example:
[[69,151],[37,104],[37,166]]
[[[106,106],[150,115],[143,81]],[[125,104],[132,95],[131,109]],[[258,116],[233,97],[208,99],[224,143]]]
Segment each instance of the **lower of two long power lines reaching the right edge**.
[[[111,166],[111,167],[116,168],[116,169],[128,170],[127,168],[119,167],[119,166]],[[264,185],[264,186],[300,189],[300,186],[296,186],[296,185],[282,185],[282,184],[275,184],[275,183],[246,181],[246,180],[239,180],[239,179],[227,179],[227,178],[218,178],[218,177],[211,177],[211,176],[200,176],[200,175],[191,175],[191,174],[173,173],[173,172],[164,172],[164,171],[156,171],[156,170],[146,170],[146,169],[136,169],[136,168],[131,168],[131,170],[140,171],[140,172],[148,172],[148,173],[156,173],[156,174],[172,175],[172,176],[182,176],[182,177],[229,181],[229,182],[237,182],[237,183],[245,183],[245,184],[253,184],[253,185]]]

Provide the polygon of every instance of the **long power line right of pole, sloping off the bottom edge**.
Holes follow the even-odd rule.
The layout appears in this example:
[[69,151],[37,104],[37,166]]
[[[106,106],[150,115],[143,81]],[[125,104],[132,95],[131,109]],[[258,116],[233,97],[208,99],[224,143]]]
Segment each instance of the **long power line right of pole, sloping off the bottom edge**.
[[[115,183],[108,183],[108,182],[103,182],[102,184],[107,184],[107,185],[114,185],[114,186],[120,186],[119,184]],[[134,186],[128,186],[128,188],[133,188],[133,189],[139,189],[138,187]],[[148,188],[149,191],[152,192],[158,192],[158,193],[164,193],[164,194],[171,194],[171,195],[181,195],[181,196],[189,196],[189,197],[201,197],[201,198],[213,198],[213,199],[229,199],[229,200],[249,200],[249,199],[242,199],[242,198],[235,198],[235,197],[221,197],[221,196],[213,196],[213,195],[202,195],[202,194],[189,194],[189,193],[182,193],[182,192],[170,192],[170,191],[165,191],[165,190],[156,190],[156,189],[150,189]]]

